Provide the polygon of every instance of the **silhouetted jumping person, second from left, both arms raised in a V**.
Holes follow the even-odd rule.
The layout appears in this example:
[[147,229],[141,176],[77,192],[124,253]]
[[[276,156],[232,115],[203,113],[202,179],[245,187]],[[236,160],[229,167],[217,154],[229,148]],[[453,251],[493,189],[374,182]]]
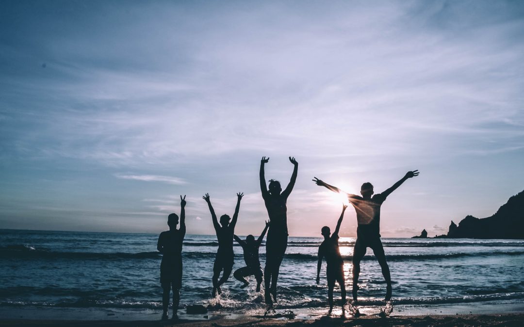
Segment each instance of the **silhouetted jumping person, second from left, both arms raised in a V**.
[[[222,293],[220,286],[226,282],[227,278],[231,275],[231,270],[233,270],[235,259],[235,253],[233,252],[233,234],[235,233],[238,210],[240,209],[240,200],[242,200],[244,193],[237,193],[236,196],[236,208],[231,223],[230,216],[222,215],[220,217],[220,225],[216,220],[215,210],[211,205],[209,194],[206,193],[202,197],[206,202],[208,202],[211,218],[213,219],[213,226],[215,227],[216,239],[219,241],[219,250],[216,252],[215,264],[213,265],[213,297],[216,296],[216,292],[219,292],[219,294]],[[220,272],[222,272],[222,270],[224,272],[219,281]]]

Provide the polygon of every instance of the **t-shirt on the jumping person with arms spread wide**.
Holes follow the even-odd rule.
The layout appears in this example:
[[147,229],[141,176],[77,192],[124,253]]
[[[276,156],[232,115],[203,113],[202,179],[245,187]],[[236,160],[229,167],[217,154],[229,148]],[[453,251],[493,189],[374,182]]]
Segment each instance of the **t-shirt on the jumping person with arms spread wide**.
[[381,194],[370,199],[350,194],[347,196],[357,213],[357,238],[380,237],[380,206],[386,200]]

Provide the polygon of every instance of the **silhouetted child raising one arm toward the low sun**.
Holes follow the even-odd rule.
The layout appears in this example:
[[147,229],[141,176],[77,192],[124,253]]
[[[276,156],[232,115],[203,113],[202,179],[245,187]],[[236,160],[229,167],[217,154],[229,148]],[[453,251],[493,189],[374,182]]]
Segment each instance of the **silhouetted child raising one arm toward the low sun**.
[[340,285],[340,293],[342,295],[342,312],[344,312],[344,304],[346,303],[346,284],[344,279],[344,261],[340,255],[339,250],[339,231],[342,219],[344,219],[344,212],[347,206],[342,206],[342,213],[339,221],[336,223],[335,232],[330,236],[331,230],[328,226],[322,227],[322,236],[324,241],[319,246],[319,263],[316,266],[316,284],[320,283],[320,267],[322,266],[322,258],[326,258],[326,277],[328,277],[328,301],[329,313],[333,311],[333,288],[335,281]]

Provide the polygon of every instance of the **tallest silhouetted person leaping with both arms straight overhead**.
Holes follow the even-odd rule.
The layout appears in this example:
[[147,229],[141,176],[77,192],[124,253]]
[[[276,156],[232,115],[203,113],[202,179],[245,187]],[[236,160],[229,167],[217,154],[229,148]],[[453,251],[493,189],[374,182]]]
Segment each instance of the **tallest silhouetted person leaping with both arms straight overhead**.
[[280,264],[286,248],[288,246],[288,222],[287,206],[288,196],[293,190],[294,183],[297,181],[298,162],[294,157],[289,157],[289,161],[294,165],[293,174],[288,187],[282,191],[280,182],[271,179],[269,190],[266,187],[264,176],[264,164],[269,158],[262,157],[260,160],[260,190],[266,204],[267,213],[270,220],[269,231],[266,239],[266,267],[264,269],[265,299],[268,306],[273,305],[270,294],[277,301],[277,280]]

